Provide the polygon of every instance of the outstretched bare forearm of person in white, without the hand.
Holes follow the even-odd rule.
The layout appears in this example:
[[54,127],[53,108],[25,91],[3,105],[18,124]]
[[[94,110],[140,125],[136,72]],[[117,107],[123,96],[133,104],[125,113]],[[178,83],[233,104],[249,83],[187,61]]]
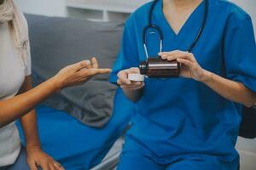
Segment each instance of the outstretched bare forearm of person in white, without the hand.
[[60,90],[58,83],[54,78],[51,78],[24,94],[0,101],[0,127],[14,122],[20,116],[26,115],[38,103],[58,90]]

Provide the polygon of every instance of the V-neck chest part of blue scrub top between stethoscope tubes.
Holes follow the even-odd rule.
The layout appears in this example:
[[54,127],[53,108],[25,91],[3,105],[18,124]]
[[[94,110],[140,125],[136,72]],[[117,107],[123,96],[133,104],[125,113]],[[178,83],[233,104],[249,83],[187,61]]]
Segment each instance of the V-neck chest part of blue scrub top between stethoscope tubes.
[[[177,34],[166,20],[166,16],[163,12],[163,1],[160,0],[159,3],[155,5],[153,23],[160,26],[160,29],[163,31],[164,50],[187,50],[189,48],[201,28],[203,14],[205,12],[205,3],[204,0],[195,8]],[[168,44],[168,47],[166,47],[165,44]]]

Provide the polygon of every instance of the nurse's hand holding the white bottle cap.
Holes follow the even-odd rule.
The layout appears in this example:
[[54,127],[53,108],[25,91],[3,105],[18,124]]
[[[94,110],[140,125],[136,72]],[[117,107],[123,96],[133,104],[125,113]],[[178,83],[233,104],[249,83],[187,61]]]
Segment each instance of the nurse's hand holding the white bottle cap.
[[134,82],[128,79],[128,75],[132,73],[140,74],[139,68],[132,67],[130,69],[119,71],[117,83],[123,90],[133,91],[143,88],[144,82]]

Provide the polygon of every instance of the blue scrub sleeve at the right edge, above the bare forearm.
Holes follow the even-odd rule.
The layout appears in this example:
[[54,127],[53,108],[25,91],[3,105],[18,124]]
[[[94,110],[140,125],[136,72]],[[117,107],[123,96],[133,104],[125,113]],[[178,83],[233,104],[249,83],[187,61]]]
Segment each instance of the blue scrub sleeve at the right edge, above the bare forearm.
[[256,92],[256,45],[249,15],[231,15],[224,34],[226,76]]

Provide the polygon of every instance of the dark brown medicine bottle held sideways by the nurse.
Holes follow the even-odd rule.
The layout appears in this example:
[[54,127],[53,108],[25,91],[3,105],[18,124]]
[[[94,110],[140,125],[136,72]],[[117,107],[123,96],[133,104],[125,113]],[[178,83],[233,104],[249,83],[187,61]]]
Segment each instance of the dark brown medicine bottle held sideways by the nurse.
[[152,78],[178,77],[180,74],[180,63],[177,60],[168,61],[160,57],[151,57],[140,63],[142,75]]

